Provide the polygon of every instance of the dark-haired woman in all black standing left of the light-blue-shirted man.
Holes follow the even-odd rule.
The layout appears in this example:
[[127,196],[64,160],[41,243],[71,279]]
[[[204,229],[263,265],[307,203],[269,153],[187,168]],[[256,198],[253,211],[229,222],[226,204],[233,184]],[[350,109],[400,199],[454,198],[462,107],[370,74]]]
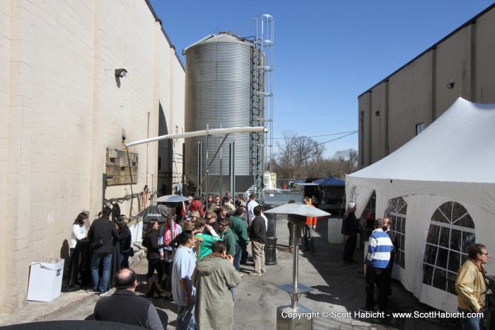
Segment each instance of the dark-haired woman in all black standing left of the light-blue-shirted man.
[[[146,285],[148,285],[148,297],[163,298],[158,292],[163,278],[163,267],[161,265],[160,258],[162,255],[158,249],[168,246],[168,243],[158,244],[158,221],[148,221],[148,227],[146,228],[146,235],[143,240],[143,245],[146,246],[146,259],[148,259],[148,274],[146,274]],[[163,253],[162,253],[163,254]],[[158,275],[158,283],[153,282],[153,273]],[[153,292],[156,291],[156,295]]]

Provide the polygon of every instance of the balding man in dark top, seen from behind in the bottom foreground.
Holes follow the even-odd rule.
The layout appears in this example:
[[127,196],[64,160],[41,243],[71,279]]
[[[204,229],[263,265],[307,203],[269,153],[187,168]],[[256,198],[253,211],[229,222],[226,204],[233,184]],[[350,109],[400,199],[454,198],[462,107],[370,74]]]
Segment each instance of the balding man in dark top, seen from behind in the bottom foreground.
[[122,268],[115,273],[115,288],[110,297],[104,297],[95,305],[95,319],[140,326],[146,329],[162,330],[163,324],[168,323],[164,314],[161,321],[153,304],[134,293],[136,290],[136,273],[131,268]]

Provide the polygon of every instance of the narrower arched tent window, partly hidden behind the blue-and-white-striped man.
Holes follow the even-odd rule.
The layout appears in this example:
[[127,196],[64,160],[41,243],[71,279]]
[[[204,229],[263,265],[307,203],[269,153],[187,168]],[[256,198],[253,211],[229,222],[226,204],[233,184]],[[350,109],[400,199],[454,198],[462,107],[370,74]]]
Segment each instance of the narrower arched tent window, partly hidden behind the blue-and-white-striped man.
[[404,242],[406,241],[406,215],[407,203],[402,197],[397,197],[388,201],[388,208],[385,216],[392,219],[392,232],[397,237],[397,252],[395,253],[395,264],[405,269],[404,262]]

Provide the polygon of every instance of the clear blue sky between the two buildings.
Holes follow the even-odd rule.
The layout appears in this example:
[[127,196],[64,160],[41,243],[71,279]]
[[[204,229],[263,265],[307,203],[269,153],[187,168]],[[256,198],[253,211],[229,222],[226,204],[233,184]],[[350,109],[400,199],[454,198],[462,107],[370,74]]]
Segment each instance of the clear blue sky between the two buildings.
[[[274,17],[274,137],[333,140],[358,129],[358,96],[469,21],[484,0],[150,0],[182,49],[210,33]],[[252,30],[254,32],[254,29]],[[316,137],[318,135],[329,135]],[[275,140],[276,142],[276,140]],[[358,135],[325,144],[325,156],[358,149]],[[276,149],[274,149],[276,152]]]

